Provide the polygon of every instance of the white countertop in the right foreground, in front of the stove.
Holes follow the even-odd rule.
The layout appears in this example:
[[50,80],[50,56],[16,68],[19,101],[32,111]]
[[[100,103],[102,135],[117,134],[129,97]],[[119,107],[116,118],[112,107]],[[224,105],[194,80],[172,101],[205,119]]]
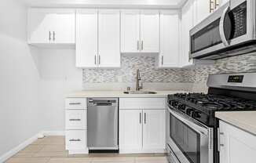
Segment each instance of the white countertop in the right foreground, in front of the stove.
[[256,111],[216,112],[215,117],[256,135]]

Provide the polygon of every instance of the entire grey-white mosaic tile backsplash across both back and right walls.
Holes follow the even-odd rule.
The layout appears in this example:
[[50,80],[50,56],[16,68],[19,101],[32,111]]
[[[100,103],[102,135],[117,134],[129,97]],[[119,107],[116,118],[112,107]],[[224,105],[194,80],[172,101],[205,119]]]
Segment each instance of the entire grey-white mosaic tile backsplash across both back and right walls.
[[205,83],[209,74],[256,71],[256,53],[217,60],[214,65],[191,69],[159,69],[153,56],[122,56],[119,69],[83,69],[83,83],[135,82],[141,70],[143,82]]

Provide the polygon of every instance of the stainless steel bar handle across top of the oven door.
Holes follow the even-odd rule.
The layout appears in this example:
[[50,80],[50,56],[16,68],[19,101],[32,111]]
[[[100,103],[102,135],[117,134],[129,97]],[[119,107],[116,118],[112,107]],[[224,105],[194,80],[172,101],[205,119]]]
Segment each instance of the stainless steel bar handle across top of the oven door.
[[186,125],[190,126],[193,130],[198,132],[200,135],[203,134],[205,136],[209,136],[210,128],[207,128],[206,126],[201,125],[199,122],[188,120],[187,118],[185,118],[185,116],[177,113],[175,110],[170,110],[170,108],[168,108],[168,110],[170,111],[170,114],[174,115],[175,118],[179,119],[180,121],[184,122]]

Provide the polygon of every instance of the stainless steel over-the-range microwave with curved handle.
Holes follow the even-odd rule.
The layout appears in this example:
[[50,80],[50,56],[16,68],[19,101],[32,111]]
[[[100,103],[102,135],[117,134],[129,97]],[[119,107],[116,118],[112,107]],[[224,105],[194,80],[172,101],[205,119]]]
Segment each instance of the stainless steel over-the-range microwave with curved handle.
[[190,31],[190,58],[218,60],[256,51],[256,1],[230,0]]

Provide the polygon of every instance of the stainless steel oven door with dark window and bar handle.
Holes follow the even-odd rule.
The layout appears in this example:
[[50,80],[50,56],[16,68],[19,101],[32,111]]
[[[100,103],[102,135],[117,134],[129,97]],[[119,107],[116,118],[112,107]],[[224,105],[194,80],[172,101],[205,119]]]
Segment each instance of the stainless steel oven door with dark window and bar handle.
[[213,163],[213,129],[170,108],[168,112],[167,146],[175,158],[182,163]]

